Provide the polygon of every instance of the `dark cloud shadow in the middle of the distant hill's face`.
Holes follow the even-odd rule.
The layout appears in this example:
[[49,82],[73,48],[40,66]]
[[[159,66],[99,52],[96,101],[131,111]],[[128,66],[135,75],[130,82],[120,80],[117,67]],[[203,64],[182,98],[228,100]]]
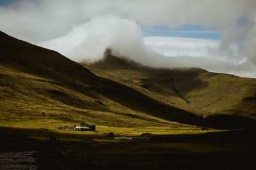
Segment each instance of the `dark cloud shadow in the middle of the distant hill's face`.
[[204,69],[154,69],[148,67],[147,71],[150,73],[150,77],[143,79],[147,89],[152,89],[163,96],[179,96],[188,104],[190,101],[185,97],[187,92],[208,85],[208,82],[198,78],[198,74],[206,72]]

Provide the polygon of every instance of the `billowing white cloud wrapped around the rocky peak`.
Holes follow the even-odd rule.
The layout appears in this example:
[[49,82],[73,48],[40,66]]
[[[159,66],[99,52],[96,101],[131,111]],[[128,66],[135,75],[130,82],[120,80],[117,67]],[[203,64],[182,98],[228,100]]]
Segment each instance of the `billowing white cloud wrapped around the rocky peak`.
[[105,15],[73,27],[67,35],[38,45],[63,53],[78,62],[102,58],[106,48],[132,59],[145,55],[140,25],[135,20]]

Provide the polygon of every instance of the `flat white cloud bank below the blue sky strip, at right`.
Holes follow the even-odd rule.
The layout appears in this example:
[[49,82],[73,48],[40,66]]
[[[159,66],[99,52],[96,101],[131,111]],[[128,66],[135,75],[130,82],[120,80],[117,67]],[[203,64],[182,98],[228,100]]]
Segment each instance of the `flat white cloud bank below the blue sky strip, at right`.
[[212,39],[147,36],[144,42],[165,56],[158,58],[164,67],[202,67],[218,73],[256,77],[253,64],[241,57],[236,43],[230,45],[231,50],[227,52],[220,50],[221,41]]

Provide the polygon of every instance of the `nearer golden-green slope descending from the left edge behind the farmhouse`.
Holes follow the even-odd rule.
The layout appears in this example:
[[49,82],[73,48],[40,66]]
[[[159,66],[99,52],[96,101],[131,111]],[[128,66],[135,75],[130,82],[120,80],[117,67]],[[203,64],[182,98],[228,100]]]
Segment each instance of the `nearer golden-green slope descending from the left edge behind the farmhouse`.
[[0,126],[60,131],[87,121],[100,132],[168,134],[202,125],[195,114],[100,78],[60,53],[3,32],[0,39]]

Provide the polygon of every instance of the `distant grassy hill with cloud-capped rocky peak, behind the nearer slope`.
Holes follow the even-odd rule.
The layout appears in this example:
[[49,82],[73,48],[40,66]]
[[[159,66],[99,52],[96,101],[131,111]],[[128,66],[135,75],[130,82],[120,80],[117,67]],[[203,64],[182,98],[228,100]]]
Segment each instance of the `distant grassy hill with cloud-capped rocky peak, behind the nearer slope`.
[[[129,66],[132,67],[129,69]],[[229,115],[228,118],[236,120],[256,118],[256,79],[253,78],[209,73],[200,68],[144,67],[109,52],[103,60],[85,67],[157,101],[207,117],[207,120],[216,119],[217,115]]]

